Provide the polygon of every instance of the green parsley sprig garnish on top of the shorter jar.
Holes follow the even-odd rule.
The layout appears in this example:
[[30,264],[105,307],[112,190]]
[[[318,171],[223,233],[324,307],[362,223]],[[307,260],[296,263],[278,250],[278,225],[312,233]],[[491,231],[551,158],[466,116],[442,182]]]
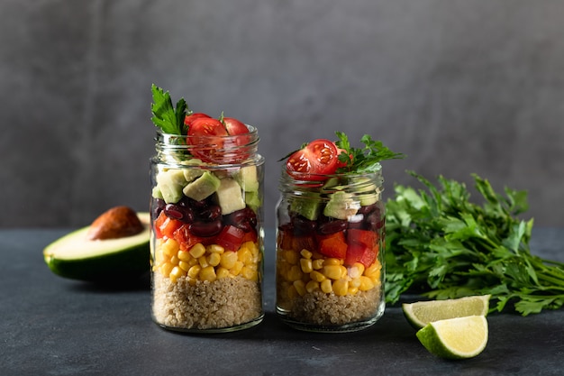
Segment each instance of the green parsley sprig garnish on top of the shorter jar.
[[339,140],[335,142],[341,148],[339,161],[345,164],[337,173],[368,173],[379,170],[380,161],[405,158],[405,154],[389,150],[381,141],[372,140],[368,134],[360,138],[364,148],[350,146],[349,138],[345,133],[335,132]]

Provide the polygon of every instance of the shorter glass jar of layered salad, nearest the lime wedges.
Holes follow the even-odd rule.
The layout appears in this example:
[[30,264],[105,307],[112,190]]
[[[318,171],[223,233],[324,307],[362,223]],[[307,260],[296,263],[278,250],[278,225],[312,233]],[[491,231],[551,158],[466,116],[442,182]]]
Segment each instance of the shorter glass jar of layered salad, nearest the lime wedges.
[[385,308],[382,173],[283,169],[277,204],[277,316],[296,329],[351,332]]

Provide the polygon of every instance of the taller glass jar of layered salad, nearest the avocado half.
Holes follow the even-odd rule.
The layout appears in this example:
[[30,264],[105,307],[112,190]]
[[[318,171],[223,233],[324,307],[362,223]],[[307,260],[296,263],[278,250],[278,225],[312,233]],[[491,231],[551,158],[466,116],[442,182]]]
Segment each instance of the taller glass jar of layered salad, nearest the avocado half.
[[152,318],[222,333],[264,316],[264,158],[259,135],[157,133],[151,175]]

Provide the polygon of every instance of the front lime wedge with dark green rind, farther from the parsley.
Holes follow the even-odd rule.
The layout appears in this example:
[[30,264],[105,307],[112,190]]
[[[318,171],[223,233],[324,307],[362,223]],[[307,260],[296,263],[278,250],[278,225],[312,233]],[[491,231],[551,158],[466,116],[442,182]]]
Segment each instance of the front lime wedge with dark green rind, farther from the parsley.
[[465,316],[427,324],[417,338],[430,353],[446,359],[472,358],[486,348],[486,316]]

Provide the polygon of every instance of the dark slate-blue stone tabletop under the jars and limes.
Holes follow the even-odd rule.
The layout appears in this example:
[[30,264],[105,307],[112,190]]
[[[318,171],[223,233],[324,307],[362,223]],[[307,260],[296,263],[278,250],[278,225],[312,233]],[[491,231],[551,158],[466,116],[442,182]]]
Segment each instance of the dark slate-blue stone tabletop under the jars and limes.
[[[65,229],[0,230],[0,375],[561,375],[564,309],[488,316],[478,357],[444,361],[415,337],[401,307],[364,331],[296,331],[274,314],[268,231],[264,321],[223,335],[181,335],[150,319],[149,282],[104,289],[59,278],[42,258]],[[532,252],[564,261],[564,229],[533,230]]]

